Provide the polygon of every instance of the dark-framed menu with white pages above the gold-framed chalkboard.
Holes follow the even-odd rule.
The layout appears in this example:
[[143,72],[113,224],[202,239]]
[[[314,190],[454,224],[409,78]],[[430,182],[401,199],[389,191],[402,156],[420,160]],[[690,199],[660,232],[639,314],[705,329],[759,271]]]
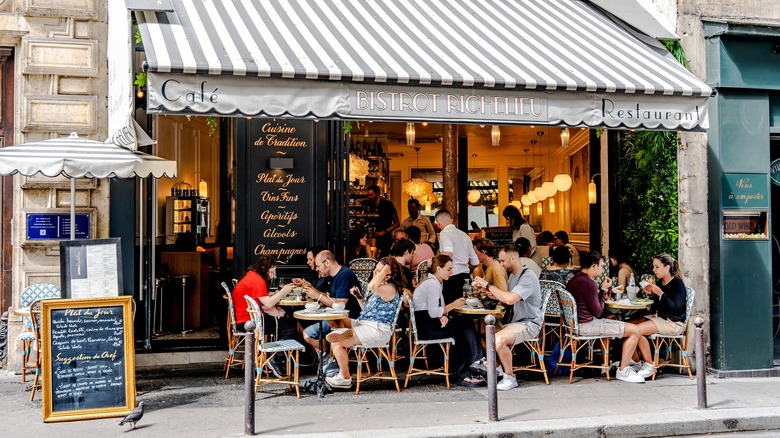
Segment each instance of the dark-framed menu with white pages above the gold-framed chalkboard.
[[118,237],[60,242],[63,298],[117,297],[122,290]]

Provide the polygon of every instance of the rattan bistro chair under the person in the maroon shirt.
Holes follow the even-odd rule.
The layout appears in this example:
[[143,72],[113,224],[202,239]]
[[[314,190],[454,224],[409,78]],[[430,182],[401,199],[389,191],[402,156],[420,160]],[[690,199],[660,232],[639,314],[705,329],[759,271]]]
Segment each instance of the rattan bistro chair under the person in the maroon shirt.
[[[563,351],[566,348],[571,348],[571,363],[567,364],[569,368],[569,383],[574,378],[574,372],[580,368],[596,368],[604,371],[609,380],[609,336],[581,336],[579,334],[579,322],[577,320],[577,304],[574,301],[574,297],[567,290],[559,290],[558,303],[561,305],[564,317],[564,327],[566,333],[561,340],[561,353],[558,357],[558,365],[555,366],[557,374],[558,367],[561,365],[561,359],[563,358]],[[601,344],[602,363],[596,363],[593,360],[594,345],[598,341]],[[588,349],[587,361],[583,363],[577,363],[577,356],[580,350],[583,348]]]

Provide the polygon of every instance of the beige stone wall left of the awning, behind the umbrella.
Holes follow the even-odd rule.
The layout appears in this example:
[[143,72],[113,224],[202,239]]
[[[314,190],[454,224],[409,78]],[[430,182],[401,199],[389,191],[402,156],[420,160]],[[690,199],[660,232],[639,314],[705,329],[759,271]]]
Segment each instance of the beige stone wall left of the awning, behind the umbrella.
[[[107,11],[98,0],[0,1],[0,60],[4,144],[67,136],[107,136]],[[7,78],[7,76],[11,78]],[[10,80],[7,80],[10,79]],[[59,242],[29,241],[26,214],[68,212],[70,183],[64,178],[3,178],[3,309],[17,307],[19,292],[34,283],[59,285]],[[108,182],[80,179],[76,209],[91,213],[95,237],[108,235]],[[11,202],[13,199],[13,202]],[[11,222],[12,221],[12,222]],[[12,223],[12,226],[11,226]],[[9,365],[19,366],[13,340],[20,319],[9,318]]]

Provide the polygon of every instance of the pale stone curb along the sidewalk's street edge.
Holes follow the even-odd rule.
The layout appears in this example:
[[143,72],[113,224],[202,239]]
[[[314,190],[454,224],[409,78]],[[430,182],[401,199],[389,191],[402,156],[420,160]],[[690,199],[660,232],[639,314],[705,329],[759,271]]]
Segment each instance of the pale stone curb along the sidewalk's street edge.
[[[344,432],[295,434],[295,436],[316,436],[320,438],[362,438],[365,436],[370,436],[372,438],[483,438],[509,436],[545,438],[639,438],[766,430],[780,430],[780,411],[775,407],[674,411],[646,415],[561,418],[522,422],[505,420],[496,423],[352,430]],[[256,430],[256,432],[258,435],[264,437],[289,438],[292,436],[264,434],[262,433],[262,430]]]

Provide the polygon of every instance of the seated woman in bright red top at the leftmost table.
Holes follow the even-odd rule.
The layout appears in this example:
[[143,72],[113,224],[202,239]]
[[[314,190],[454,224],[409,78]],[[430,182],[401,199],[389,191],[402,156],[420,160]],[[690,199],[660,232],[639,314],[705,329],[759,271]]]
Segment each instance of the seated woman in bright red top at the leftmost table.
[[[233,308],[236,313],[236,329],[243,331],[244,323],[249,321],[249,312],[247,311],[247,303],[244,296],[249,296],[260,303],[263,309],[263,325],[265,326],[265,333],[274,333],[276,340],[283,339],[295,339],[296,326],[295,322],[290,318],[285,318],[284,310],[282,310],[278,304],[287,294],[292,292],[293,284],[288,283],[284,285],[273,296],[268,295],[268,280],[276,277],[276,260],[267,255],[261,255],[257,257],[257,261],[252,265],[241,278],[241,280],[233,288]],[[277,356],[274,356],[276,358]],[[283,371],[286,369],[284,364],[279,363],[283,360],[283,356],[278,361],[270,361],[271,371],[276,377],[282,377]]]

